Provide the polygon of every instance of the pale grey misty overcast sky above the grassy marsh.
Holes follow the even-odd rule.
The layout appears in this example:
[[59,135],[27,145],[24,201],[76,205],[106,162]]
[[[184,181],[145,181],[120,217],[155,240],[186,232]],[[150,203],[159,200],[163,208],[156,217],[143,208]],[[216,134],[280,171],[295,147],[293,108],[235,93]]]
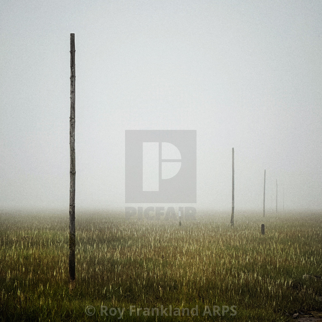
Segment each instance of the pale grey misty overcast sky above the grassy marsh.
[[[0,208],[125,206],[127,129],[197,131],[197,204],[322,208],[321,1],[2,1]],[[166,205],[167,206],[167,205]]]

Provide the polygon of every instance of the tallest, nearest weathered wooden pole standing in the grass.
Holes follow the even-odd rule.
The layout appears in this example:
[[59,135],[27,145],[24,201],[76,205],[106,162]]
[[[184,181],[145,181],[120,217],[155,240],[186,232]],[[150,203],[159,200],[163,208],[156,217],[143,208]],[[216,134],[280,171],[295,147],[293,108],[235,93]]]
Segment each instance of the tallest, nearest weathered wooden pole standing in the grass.
[[69,290],[75,289],[75,34],[71,33],[71,116],[69,118],[70,189],[69,189]]

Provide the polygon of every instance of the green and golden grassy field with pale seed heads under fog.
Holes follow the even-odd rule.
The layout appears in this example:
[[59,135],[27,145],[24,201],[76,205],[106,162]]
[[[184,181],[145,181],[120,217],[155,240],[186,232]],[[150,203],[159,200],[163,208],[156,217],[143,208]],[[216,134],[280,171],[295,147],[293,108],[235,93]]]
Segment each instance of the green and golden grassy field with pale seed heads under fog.
[[[267,214],[262,236],[260,214],[236,213],[231,228],[229,214],[211,212],[181,227],[82,213],[76,215],[77,289],[69,294],[68,214],[3,212],[0,320],[292,320],[286,313],[322,309],[321,280],[302,278],[322,275],[321,215]],[[161,316],[161,305],[168,315],[172,307],[171,317]],[[96,310],[92,316],[88,306]],[[122,319],[118,308],[125,308]]]

